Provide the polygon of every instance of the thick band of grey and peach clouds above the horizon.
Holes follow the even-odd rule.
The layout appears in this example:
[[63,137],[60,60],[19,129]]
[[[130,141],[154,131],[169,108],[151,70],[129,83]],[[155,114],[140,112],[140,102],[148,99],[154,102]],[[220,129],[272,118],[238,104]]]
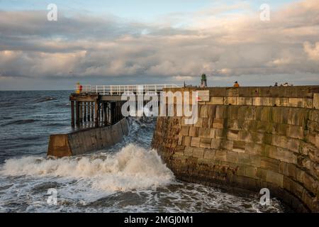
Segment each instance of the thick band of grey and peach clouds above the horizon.
[[[225,13],[235,9],[247,13]],[[54,22],[46,11],[0,11],[0,75],[178,82],[203,72],[221,79],[304,74],[313,82],[319,75],[318,11],[317,0],[301,1],[272,11],[267,23],[247,4],[177,13],[162,23],[63,13]]]

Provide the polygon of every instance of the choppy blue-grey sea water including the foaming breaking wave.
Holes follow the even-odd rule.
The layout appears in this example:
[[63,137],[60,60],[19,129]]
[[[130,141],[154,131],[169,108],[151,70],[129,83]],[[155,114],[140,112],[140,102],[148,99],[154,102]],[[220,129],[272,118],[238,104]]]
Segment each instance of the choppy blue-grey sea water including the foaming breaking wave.
[[[0,212],[284,212],[272,198],[175,179],[151,150],[155,118],[130,118],[121,143],[47,158],[48,137],[70,127],[70,91],[0,92]],[[57,203],[47,202],[57,192]],[[51,190],[51,191],[50,191]]]

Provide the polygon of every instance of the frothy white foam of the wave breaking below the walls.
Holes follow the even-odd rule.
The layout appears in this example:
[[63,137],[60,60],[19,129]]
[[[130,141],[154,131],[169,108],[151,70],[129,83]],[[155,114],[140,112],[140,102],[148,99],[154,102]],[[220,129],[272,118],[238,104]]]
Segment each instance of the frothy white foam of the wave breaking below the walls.
[[94,189],[108,192],[157,187],[174,179],[173,173],[162,163],[155,150],[145,150],[133,144],[113,155],[10,159],[6,160],[0,174],[86,179]]

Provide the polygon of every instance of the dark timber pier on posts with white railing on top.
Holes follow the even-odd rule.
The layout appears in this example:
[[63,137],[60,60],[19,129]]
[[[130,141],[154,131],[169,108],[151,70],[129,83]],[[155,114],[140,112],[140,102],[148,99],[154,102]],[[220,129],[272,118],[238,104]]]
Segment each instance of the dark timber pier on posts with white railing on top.
[[71,101],[72,128],[111,126],[121,121],[123,94],[149,94],[162,92],[163,88],[177,88],[175,84],[147,85],[77,85]]

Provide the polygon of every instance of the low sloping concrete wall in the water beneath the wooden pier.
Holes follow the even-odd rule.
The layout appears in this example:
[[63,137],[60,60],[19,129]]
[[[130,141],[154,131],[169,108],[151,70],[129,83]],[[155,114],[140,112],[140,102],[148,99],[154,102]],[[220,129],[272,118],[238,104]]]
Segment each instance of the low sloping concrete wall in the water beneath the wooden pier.
[[112,126],[50,135],[47,155],[65,157],[101,150],[121,142],[123,135],[128,135],[128,120],[126,118]]

